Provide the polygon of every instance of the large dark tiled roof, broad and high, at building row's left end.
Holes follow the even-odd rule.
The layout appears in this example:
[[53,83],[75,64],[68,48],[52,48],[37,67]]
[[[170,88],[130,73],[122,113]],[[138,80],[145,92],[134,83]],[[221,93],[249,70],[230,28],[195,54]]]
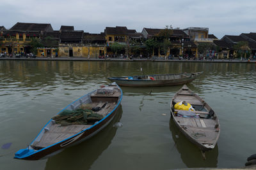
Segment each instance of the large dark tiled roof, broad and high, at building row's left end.
[[17,22],[10,29],[12,31],[53,31],[51,24],[36,24]]

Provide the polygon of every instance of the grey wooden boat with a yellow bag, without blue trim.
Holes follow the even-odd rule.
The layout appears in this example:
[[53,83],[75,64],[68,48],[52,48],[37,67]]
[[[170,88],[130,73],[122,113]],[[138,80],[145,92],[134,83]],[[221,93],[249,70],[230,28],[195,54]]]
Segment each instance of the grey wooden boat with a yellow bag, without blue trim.
[[[181,101],[191,104],[195,111],[175,110],[174,105]],[[180,131],[202,151],[211,150],[220,136],[220,123],[216,113],[198,95],[184,85],[173,96],[172,118]]]

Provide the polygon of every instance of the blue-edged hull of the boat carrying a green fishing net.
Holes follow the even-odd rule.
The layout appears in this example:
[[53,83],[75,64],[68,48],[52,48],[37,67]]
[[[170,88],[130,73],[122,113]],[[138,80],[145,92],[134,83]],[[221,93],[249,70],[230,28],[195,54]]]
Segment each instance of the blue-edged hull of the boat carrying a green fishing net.
[[[118,87],[118,85],[116,85],[116,83],[112,83],[112,85],[115,85],[116,87]],[[28,146],[28,148],[25,148],[25,149],[22,149],[22,150],[19,150],[18,152],[16,152],[14,158],[15,159],[23,159],[23,160],[45,159],[47,157],[51,157],[52,155],[55,155],[55,154],[61,152],[64,148],[66,148],[68,146],[77,145],[78,143],[81,143],[81,142],[85,141],[86,139],[91,138],[92,136],[94,136],[95,134],[100,132],[102,129],[104,129],[104,127],[106,127],[111,122],[111,120],[113,120],[116,113],[118,113],[118,111],[120,111],[120,107],[121,107],[120,103],[122,101],[122,89],[120,89],[120,87],[118,87],[118,89],[120,92],[120,93],[118,93],[119,96],[113,96],[113,97],[115,97],[115,99],[116,99],[116,97],[118,98],[118,100],[116,100],[116,102],[115,102],[115,106],[113,106],[113,109],[111,109],[111,111],[109,111],[108,114],[106,115],[106,117],[102,118],[102,120],[95,122],[93,125],[86,127],[86,129],[84,129],[82,131],[80,131],[80,130],[77,131],[76,134],[74,134],[70,137],[61,139],[60,141],[56,141],[56,143],[52,143],[52,145],[48,145],[48,146],[36,145],[36,143],[38,143],[42,139],[42,136],[44,135],[44,133],[47,133],[47,131],[50,131],[49,127],[51,127],[52,124],[56,124],[54,122],[54,120],[51,119],[45,125],[45,127],[40,131],[38,136],[36,136],[36,138]],[[91,96],[92,93],[94,93],[95,91],[90,92],[89,94],[86,94],[83,97],[77,99],[73,103],[69,104],[65,109],[77,108],[79,106],[79,104],[83,104],[83,101],[87,102],[89,99],[88,96]],[[91,97],[93,97],[93,96],[91,96]],[[97,96],[95,96],[95,97],[97,97]],[[109,97],[110,96],[103,96],[102,100],[103,101],[106,99],[109,100]],[[98,98],[96,98],[96,99],[98,99]],[[63,109],[63,110],[65,110],[65,109]],[[60,113],[61,113],[61,111],[60,111]],[[63,127],[63,129],[65,129],[65,127]],[[52,138],[55,138],[55,137],[52,137]],[[52,139],[52,138],[49,138],[49,139]],[[39,146],[44,146],[44,147],[38,148]]]

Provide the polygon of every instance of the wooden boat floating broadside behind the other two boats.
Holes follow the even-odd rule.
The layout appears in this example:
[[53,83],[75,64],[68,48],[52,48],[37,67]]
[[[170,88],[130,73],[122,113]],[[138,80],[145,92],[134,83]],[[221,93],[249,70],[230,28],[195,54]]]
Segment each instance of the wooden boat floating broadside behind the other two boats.
[[180,73],[180,74],[154,74],[143,76],[122,76],[108,78],[115,81],[120,86],[129,87],[152,87],[166,85],[183,85],[189,83],[202,72],[198,73]]

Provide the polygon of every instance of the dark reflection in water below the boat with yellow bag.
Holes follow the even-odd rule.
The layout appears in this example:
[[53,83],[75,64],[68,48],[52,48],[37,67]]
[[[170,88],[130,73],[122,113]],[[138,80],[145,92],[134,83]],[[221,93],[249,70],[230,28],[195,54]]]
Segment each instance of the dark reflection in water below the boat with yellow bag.
[[204,160],[200,149],[179,131],[172,118],[170,118],[170,131],[180,158],[187,167],[217,167],[218,145],[213,150],[205,152],[206,159]]

